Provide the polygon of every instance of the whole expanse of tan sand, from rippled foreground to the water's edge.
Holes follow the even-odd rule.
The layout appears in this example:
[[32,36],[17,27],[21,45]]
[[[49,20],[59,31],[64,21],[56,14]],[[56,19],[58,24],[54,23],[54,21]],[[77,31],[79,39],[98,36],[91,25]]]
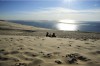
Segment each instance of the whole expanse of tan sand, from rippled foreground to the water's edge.
[[100,66],[100,33],[0,21],[0,66]]

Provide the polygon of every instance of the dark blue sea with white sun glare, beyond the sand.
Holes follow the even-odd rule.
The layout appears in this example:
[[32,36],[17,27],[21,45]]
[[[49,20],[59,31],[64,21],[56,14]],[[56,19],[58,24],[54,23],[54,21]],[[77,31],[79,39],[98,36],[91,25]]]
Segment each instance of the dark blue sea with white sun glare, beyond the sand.
[[64,31],[100,32],[100,21],[57,22],[47,20],[9,20],[14,23]]

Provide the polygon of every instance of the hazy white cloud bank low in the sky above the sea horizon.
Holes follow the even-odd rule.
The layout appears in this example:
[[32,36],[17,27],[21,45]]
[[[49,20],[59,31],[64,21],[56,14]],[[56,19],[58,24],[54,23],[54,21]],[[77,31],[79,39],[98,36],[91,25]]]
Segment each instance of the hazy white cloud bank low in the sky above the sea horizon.
[[43,8],[36,11],[20,11],[9,19],[19,20],[61,20],[72,19],[79,21],[100,21],[100,9],[74,10],[62,7]]

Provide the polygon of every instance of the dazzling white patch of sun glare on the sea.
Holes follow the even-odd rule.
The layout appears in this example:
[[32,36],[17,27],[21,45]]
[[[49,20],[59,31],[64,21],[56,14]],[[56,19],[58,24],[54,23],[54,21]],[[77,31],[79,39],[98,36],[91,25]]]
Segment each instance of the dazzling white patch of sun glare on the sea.
[[78,26],[75,20],[59,20],[60,23],[56,25],[58,30],[76,31]]

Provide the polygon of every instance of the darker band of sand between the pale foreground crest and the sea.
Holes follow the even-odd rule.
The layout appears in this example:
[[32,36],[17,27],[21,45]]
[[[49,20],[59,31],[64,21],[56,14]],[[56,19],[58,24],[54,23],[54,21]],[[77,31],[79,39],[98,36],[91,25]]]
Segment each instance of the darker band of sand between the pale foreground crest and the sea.
[[55,33],[58,38],[100,39],[99,32],[59,31],[45,28],[37,28],[33,26],[21,25],[5,21],[1,21],[0,26],[0,35],[46,37],[46,32],[49,32],[51,34]]

